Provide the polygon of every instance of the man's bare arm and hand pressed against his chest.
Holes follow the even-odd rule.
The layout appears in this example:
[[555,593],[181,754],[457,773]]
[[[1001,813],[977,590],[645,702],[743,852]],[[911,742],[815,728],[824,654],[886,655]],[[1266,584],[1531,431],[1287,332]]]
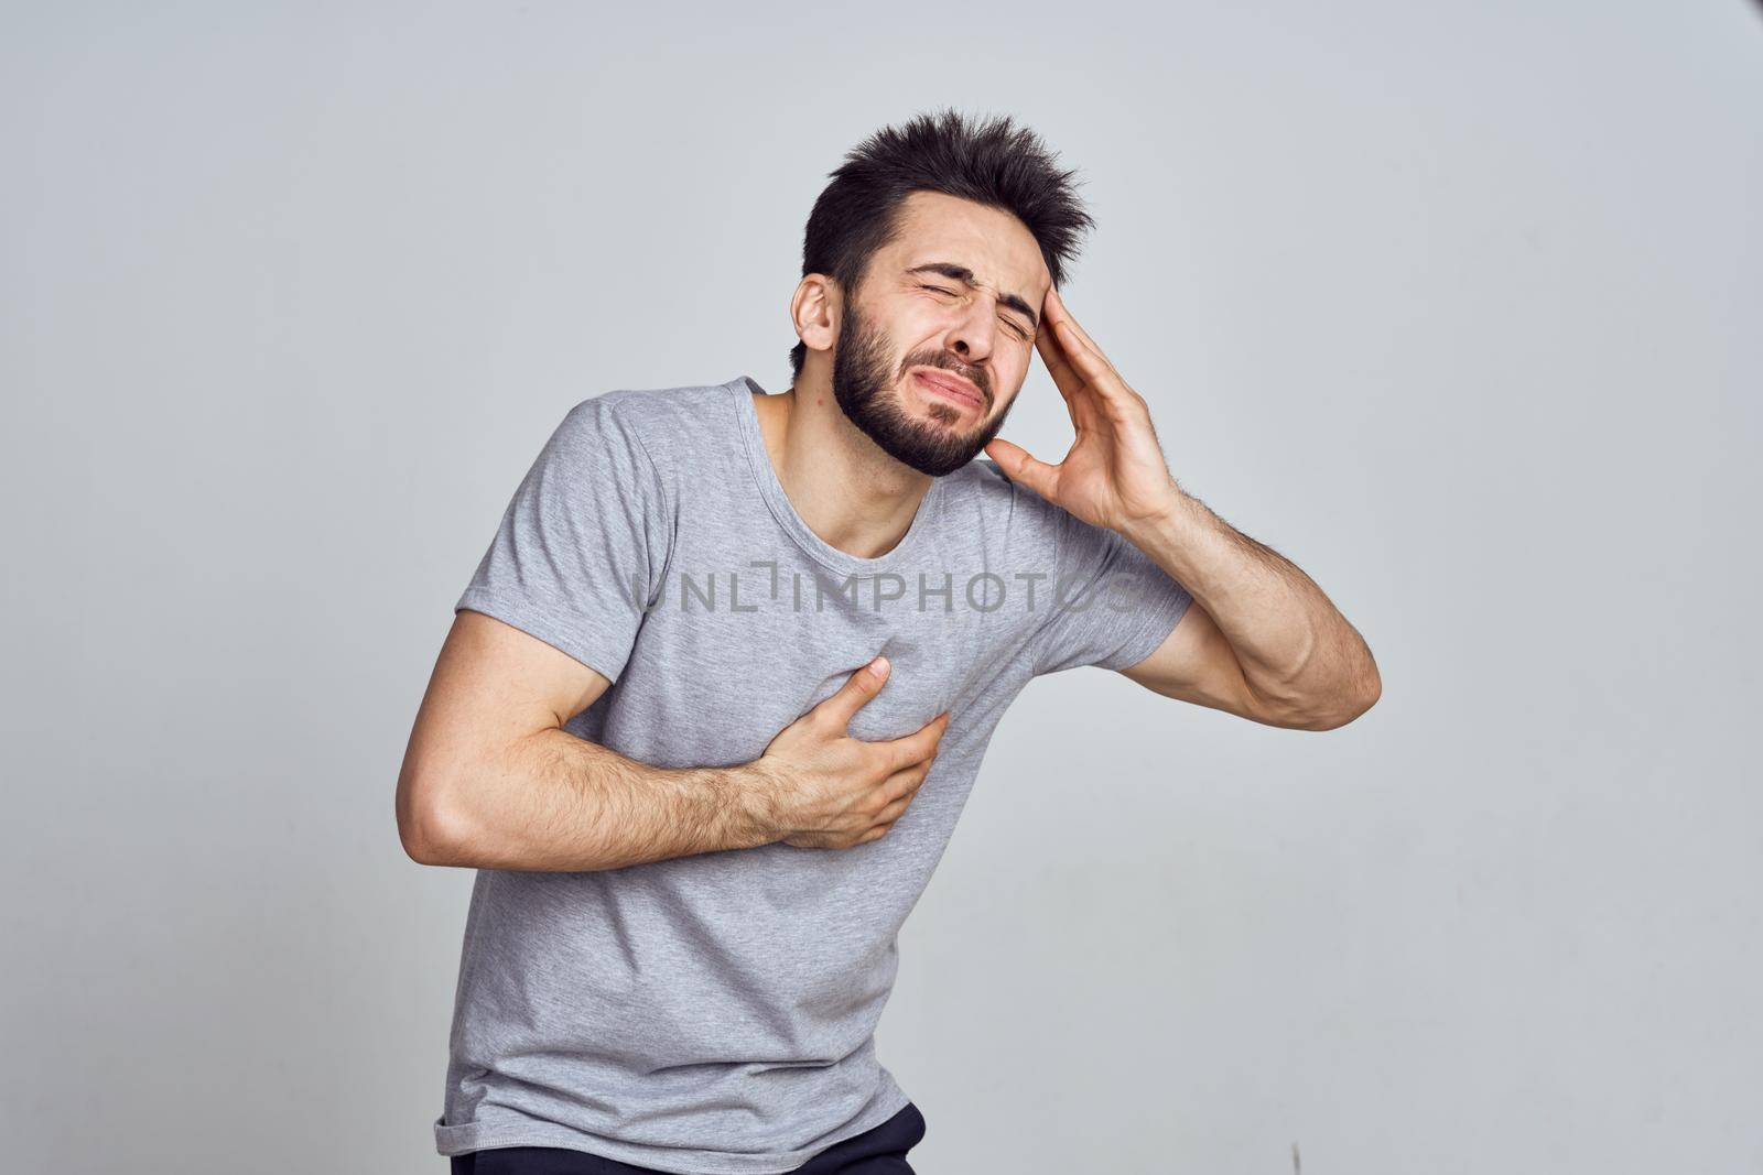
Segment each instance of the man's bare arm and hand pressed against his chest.
[[777,840],[876,840],[911,803],[948,726],[941,713],[903,738],[852,738],[852,717],[887,680],[878,662],[753,763],[656,768],[562,729],[608,689],[601,673],[462,610],[398,773],[404,851],[423,865],[596,870]]

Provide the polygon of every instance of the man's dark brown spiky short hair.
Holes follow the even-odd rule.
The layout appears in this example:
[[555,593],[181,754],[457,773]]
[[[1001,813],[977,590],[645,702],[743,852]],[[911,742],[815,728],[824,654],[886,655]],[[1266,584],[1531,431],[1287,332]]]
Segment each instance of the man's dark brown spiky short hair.
[[[802,277],[825,273],[850,296],[869,257],[889,245],[911,192],[943,192],[1021,220],[1047,262],[1058,289],[1077,255],[1077,236],[1095,222],[1077,201],[1075,169],[1061,171],[1056,155],[1008,115],[968,122],[954,109],[917,115],[901,127],[883,127],[844,155],[815,201],[802,236]],[[807,344],[797,340],[790,368],[802,375]]]

